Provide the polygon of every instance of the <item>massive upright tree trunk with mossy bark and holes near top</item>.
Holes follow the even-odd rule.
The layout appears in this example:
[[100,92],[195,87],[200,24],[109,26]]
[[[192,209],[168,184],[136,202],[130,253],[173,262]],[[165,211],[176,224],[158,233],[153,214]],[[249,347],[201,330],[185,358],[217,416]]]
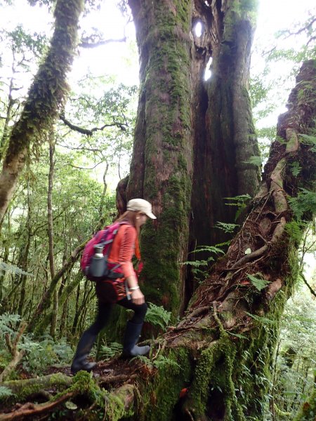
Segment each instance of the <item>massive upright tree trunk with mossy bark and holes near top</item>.
[[213,226],[234,220],[224,197],[258,186],[258,168],[246,163],[258,155],[247,93],[253,11],[236,0],[129,5],[140,98],[126,196],[151,201],[158,217],[142,234],[146,296],[178,314],[192,289],[179,263],[223,241]]

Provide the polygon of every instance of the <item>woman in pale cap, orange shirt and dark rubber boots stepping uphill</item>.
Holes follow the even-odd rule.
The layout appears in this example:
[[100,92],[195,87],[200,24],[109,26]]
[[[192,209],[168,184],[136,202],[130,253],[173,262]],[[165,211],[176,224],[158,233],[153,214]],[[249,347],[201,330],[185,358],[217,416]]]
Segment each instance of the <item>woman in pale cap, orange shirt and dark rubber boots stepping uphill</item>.
[[[143,293],[138,286],[136,272],[133,269],[131,258],[136,255],[140,259],[138,239],[140,227],[145,224],[147,218],[156,219],[152,213],[152,205],[144,199],[131,199],[127,203],[126,212],[118,218],[121,222],[117,235],[112,243],[109,262],[118,262],[130,293],[116,303],[134,311],[133,317],[127,322],[124,335],[123,355],[145,355],[150,351],[149,346],[138,347],[136,345],[143,326],[147,304]],[[114,302],[109,300],[107,281],[96,282],[96,295],[98,298],[98,314],[94,323],[83,333],[77,345],[77,351],[72,361],[71,372],[79,370],[90,372],[96,363],[86,360],[98,333],[102,330],[109,319]]]

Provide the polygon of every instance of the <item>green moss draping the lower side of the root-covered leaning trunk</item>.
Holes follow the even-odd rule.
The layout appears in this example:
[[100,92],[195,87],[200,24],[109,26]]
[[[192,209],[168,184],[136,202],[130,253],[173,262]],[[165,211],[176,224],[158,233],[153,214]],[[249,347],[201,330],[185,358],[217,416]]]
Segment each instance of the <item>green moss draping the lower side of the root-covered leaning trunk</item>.
[[[297,259],[289,246],[289,267],[284,287],[269,303],[264,317],[256,316],[248,338],[234,338],[225,332],[220,318],[220,338],[201,352],[185,406],[197,419],[212,417],[212,410],[223,408],[225,420],[262,420],[268,407],[271,365],[279,335],[284,305],[297,279]],[[214,403],[214,400],[216,403]]]

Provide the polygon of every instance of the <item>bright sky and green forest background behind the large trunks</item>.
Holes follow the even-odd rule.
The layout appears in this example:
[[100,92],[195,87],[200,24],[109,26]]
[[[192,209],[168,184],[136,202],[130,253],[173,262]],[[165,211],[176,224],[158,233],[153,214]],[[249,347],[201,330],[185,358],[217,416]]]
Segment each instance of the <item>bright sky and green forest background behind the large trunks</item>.
[[[284,4],[281,1],[277,4],[284,11]],[[4,20],[0,34],[1,159],[32,76],[47,51],[53,22],[49,1],[34,2],[32,8],[26,2],[21,5],[20,1],[0,4]],[[72,347],[93,320],[93,285],[84,281],[79,272],[79,253],[84,241],[98,227],[110,223],[117,213],[114,189],[129,173],[138,100],[137,47],[129,11],[122,4],[121,9],[109,10],[106,4],[100,7],[92,5],[80,22],[81,45],[69,77],[70,98],[54,131],[46,133],[41,145],[29,150],[1,225],[2,368],[13,357],[5,338],[18,338],[15,352],[20,352],[14,369],[4,378],[18,378],[23,371],[41,375],[53,364],[69,364]],[[315,58],[312,3],[302,2],[299,13],[295,5],[296,17],[288,22],[279,19],[276,10],[277,19],[272,20],[269,12],[267,22],[263,15],[268,9],[268,2],[261,2],[250,89],[263,161],[275,139],[277,115],[284,111],[301,62]],[[18,18],[19,13],[20,22],[18,19],[10,22],[8,16]],[[110,22],[106,20],[109,16]],[[290,13],[285,16],[289,18]],[[38,28],[37,23],[41,24]],[[196,31],[198,34],[199,27]],[[91,48],[91,42],[98,46]],[[205,78],[208,77],[211,72],[206,70]],[[258,161],[258,156],[253,159]],[[294,174],[300,171],[299,166],[293,165]],[[238,201],[238,205],[242,207],[243,203]],[[234,227],[222,228],[230,231]],[[276,409],[265,407],[266,420],[289,419],[289,414],[294,419],[314,387],[316,307],[312,293],[315,291],[312,225],[306,229],[299,258],[300,279],[282,318],[269,389],[268,401],[273,401],[272,408]],[[205,262],[195,262],[197,282],[202,281],[204,266]],[[60,276],[51,312],[41,323],[34,323],[37,305],[56,274]],[[157,330],[165,328],[171,318],[166,310],[156,307],[159,304],[153,303],[148,314],[148,321]],[[124,316],[119,314],[119,318],[115,329],[98,341],[95,350],[98,359],[119,352],[117,342]],[[175,323],[174,316],[171,320]],[[21,321],[31,321],[34,330],[28,333],[19,330]],[[6,388],[0,391],[6,398]]]

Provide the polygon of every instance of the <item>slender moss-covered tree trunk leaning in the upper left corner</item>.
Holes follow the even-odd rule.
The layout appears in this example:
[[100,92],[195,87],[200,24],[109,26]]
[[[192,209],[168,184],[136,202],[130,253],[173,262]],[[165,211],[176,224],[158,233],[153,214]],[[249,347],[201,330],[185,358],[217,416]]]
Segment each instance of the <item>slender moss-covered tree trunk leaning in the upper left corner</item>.
[[24,168],[29,148],[35,151],[58,117],[68,93],[65,81],[77,46],[82,0],[58,0],[55,6],[55,31],[51,48],[39,67],[20,119],[11,131],[0,175],[0,222],[3,220]]

